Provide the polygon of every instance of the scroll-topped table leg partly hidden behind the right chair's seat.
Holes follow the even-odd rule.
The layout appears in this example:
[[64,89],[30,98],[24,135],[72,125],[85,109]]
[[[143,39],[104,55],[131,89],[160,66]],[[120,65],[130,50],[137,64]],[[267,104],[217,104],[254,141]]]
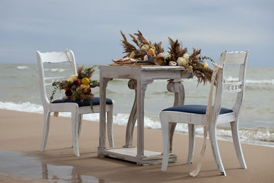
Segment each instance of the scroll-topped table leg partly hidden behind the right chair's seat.
[[[169,80],[169,83],[167,84],[166,88],[169,90],[169,92],[174,93],[174,104],[173,106],[182,106],[184,105],[184,85],[182,84],[181,80],[175,81],[175,80]],[[175,131],[177,123],[170,123],[169,125],[169,143],[170,143],[170,153],[172,153],[172,147],[173,147],[173,134]]]

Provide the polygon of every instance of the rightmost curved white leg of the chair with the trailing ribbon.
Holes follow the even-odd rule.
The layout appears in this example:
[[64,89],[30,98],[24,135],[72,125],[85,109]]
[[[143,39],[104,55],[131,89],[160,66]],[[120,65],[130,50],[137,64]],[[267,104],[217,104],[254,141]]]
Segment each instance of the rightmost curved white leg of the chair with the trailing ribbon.
[[242,169],[247,169],[247,164],[245,164],[245,158],[242,154],[242,147],[240,145],[240,137],[238,135],[238,121],[233,121],[230,125],[232,128],[233,143],[240,162],[240,167],[242,167]]

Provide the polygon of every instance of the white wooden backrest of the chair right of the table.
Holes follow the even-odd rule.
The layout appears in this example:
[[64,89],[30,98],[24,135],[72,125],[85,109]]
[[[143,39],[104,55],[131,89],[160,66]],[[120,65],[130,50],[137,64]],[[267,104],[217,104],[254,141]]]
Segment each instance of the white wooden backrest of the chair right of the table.
[[227,50],[225,50],[221,54],[221,57],[219,58],[219,65],[223,64],[223,67],[225,67],[225,65],[238,66],[239,75],[236,82],[226,83],[223,80],[224,69],[219,70],[216,79],[217,85],[212,114],[219,115],[219,112],[221,110],[221,99],[223,93],[238,93],[236,97],[236,103],[232,108],[232,110],[234,110],[234,112],[236,113],[236,116],[238,116],[245,92],[245,71],[247,69],[248,55],[249,50],[240,52],[227,52]]

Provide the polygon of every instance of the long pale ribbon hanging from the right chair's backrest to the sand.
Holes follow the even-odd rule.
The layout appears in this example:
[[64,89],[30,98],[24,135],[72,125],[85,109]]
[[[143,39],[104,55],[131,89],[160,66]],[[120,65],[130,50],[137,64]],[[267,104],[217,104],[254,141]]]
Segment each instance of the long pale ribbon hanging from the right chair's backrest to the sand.
[[203,164],[203,157],[205,156],[206,151],[206,139],[208,137],[208,125],[210,123],[210,115],[211,115],[211,108],[212,108],[212,95],[213,95],[213,88],[214,83],[216,81],[216,75],[220,69],[223,69],[223,64],[220,66],[218,64],[212,63],[214,65],[214,70],[211,77],[211,85],[210,85],[210,95],[208,96],[208,106],[206,108],[206,121],[203,127],[203,147],[201,149],[201,154],[199,158],[199,162],[197,167],[194,171],[189,173],[190,176],[195,177],[198,175],[199,171],[201,170],[201,164]]

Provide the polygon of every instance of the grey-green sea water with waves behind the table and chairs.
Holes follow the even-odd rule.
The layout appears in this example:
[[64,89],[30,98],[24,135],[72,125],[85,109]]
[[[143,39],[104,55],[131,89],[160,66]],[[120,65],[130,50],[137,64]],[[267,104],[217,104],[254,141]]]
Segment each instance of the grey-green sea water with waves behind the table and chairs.
[[[88,66],[88,65],[86,65]],[[49,64],[45,67],[48,75],[71,76],[69,65]],[[238,71],[237,71],[238,72]],[[237,73],[233,67],[225,69],[225,82],[235,81]],[[37,64],[0,64],[0,108],[24,112],[43,113],[40,100]],[[99,80],[99,71],[92,79]],[[53,82],[53,81],[49,81]],[[134,90],[127,87],[128,80],[112,80],[108,83],[107,97],[115,101],[114,124],[126,125],[134,102]],[[145,93],[145,127],[160,129],[160,111],[173,106],[174,94],[166,90],[166,80],[155,80],[147,86]],[[206,104],[210,84],[199,84],[197,78],[183,81],[185,104]],[[51,95],[51,87],[47,87]],[[92,93],[99,96],[99,88]],[[55,98],[64,96],[56,93]],[[234,106],[236,94],[223,95],[223,107]],[[69,113],[61,113],[69,117]],[[84,119],[99,121],[99,114],[86,114]],[[0,119],[1,120],[1,119]],[[274,68],[247,67],[244,103],[240,112],[240,138],[244,143],[274,147]],[[177,132],[186,133],[188,127],[178,124]],[[203,127],[197,127],[197,135],[203,135]],[[218,137],[231,140],[229,124],[218,127]]]

